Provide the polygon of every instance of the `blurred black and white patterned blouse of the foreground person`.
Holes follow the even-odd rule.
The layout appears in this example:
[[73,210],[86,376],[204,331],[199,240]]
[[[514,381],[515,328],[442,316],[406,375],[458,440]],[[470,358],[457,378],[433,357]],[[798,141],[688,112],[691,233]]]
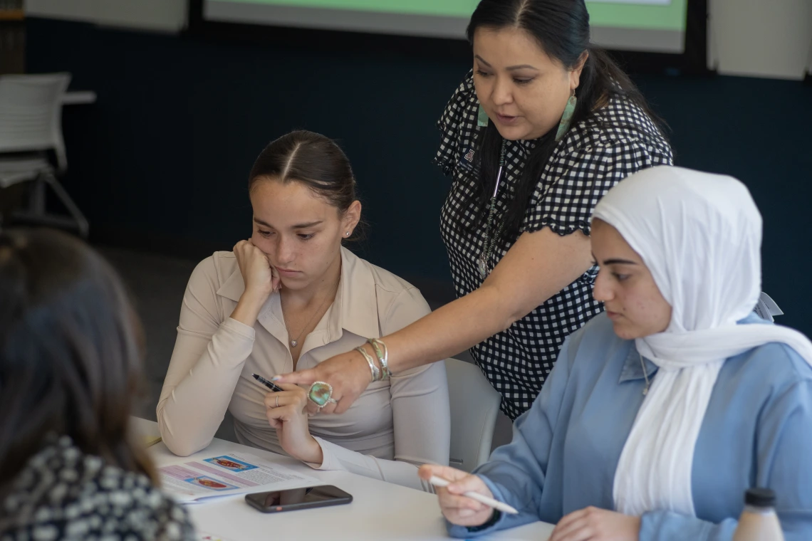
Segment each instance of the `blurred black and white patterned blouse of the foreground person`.
[[108,466],[63,436],[17,475],[0,502],[0,541],[194,541],[185,509],[143,474]]

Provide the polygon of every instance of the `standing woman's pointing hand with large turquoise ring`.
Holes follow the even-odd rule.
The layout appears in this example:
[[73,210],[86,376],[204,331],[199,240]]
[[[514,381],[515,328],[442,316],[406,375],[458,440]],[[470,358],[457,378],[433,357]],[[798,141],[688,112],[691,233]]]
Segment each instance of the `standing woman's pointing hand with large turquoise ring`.
[[[336,403],[328,403],[324,406],[321,413],[325,414],[342,414],[347,411],[352,406],[352,402],[356,401],[365,391],[370,379],[369,364],[355,350],[331,357],[319,363],[315,368],[273,378],[278,383],[304,385],[305,387],[316,381],[324,381],[332,385],[331,397],[335,399]],[[313,401],[308,401],[308,411],[316,413],[319,409]]]

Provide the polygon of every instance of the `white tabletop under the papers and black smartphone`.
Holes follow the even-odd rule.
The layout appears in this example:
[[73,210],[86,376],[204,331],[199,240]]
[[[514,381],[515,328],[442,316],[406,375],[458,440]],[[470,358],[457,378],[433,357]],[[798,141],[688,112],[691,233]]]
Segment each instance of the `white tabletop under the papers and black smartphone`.
[[[158,423],[133,419],[136,432],[158,436]],[[190,457],[177,457],[161,443],[149,448],[156,466],[171,466],[196,458],[243,452],[282,464],[335,485],[352,494],[352,503],[322,509],[265,514],[249,507],[244,496],[187,505],[198,530],[219,535],[227,541],[254,539],[311,539],[313,541],[435,541],[449,539],[437,496],[412,488],[368,479],[345,471],[313,470],[290,457],[245,445],[215,439],[206,449]],[[535,522],[504,530],[485,539],[501,541],[546,541],[553,526]]]

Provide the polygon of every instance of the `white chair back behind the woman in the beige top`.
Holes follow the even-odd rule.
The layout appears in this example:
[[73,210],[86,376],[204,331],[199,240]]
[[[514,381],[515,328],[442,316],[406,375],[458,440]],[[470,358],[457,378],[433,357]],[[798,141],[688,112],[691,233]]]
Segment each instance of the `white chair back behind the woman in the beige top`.
[[502,397],[473,363],[446,359],[446,373],[451,400],[449,466],[471,471],[490,456]]

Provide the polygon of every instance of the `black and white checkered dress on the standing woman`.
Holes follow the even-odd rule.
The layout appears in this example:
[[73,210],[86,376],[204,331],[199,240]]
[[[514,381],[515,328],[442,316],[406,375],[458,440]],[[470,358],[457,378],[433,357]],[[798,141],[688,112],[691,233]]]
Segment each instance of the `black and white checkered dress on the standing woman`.
[[[443,172],[453,179],[443,205],[441,229],[460,297],[476,290],[483,281],[477,260],[483,251],[484,226],[473,226],[479,216],[480,191],[474,157],[478,150],[477,133],[484,129],[477,127],[478,110],[470,72],[438,121],[442,141],[435,158]],[[533,146],[534,141],[508,141],[495,229]],[[521,231],[549,227],[560,235],[576,230],[589,235],[592,210],[609,188],[629,174],[654,165],[672,165],[667,141],[637,105],[613,98],[603,109],[573,126],[559,141],[530,197]],[[467,232],[474,230],[475,234]],[[494,247],[489,268],[499,263],[516,238],[504,238]],[[477,365],[502,394],[502,410],[511,419],[533,403],[564,338],[603,311],[603,305],[592,298],[597,272],[597,267],[590,268],[508,330],[472,348]]]

